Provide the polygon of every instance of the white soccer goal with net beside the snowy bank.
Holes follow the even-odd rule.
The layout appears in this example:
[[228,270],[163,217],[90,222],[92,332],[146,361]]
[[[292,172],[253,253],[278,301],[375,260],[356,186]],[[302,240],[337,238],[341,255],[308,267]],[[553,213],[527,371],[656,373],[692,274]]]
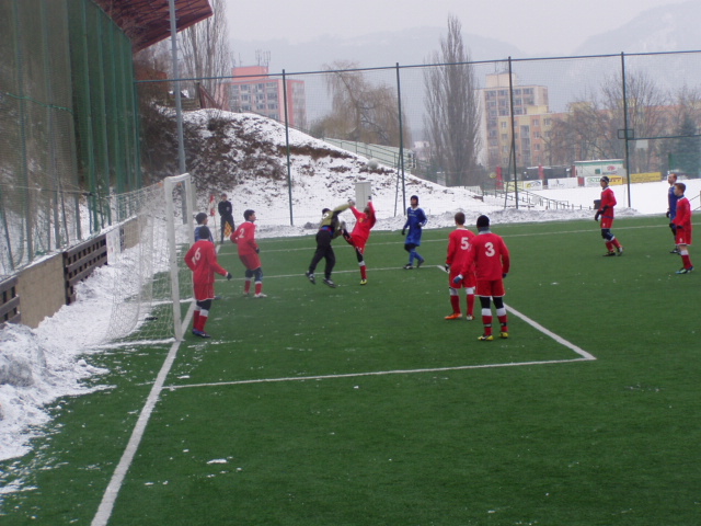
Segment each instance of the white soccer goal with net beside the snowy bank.
[[194,241],[193,195],[186,173],[114,196],[118,227],[107,233],[114,288],[106,340],[183,338],[193,300],[192,273],[183,260]]

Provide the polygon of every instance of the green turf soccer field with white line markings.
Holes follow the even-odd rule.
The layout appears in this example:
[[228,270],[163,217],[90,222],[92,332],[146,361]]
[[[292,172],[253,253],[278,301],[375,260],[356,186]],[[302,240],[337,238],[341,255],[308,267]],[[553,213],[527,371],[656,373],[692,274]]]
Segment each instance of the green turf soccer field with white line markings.
[[303,276],[313,237],[261,240],[266,299],[222,245],[212,338],[88,357],[108,387],[0,464],[0,522],[701,524],[701,295],[665,219],[617,219],[621,258],[591,220],[493,230],[513,261],[493,342],[444,320],[447,229],[412,271],[374,232],[366,286],[336,240],[335,289]]

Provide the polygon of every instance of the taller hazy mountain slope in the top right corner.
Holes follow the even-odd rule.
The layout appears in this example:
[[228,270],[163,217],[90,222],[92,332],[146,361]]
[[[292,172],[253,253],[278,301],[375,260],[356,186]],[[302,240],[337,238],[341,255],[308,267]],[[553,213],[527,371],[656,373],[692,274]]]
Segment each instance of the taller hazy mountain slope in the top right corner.
[[618,30],[588,38],[575,55],[697,50],[701,49],[700,26],[699,0],[653,8]]

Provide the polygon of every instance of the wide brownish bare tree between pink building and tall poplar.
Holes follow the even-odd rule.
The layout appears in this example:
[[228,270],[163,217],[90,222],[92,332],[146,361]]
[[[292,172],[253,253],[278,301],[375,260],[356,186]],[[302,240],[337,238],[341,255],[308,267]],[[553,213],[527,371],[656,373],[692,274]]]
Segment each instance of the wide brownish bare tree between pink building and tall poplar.
[[314,123],[314,135],[398,147],[403,133],[407,142],[409,126],[404,117],[400,129],[395,89],[383,83],[372,85],[357,67],[345,60],[324,65],[332,110]]

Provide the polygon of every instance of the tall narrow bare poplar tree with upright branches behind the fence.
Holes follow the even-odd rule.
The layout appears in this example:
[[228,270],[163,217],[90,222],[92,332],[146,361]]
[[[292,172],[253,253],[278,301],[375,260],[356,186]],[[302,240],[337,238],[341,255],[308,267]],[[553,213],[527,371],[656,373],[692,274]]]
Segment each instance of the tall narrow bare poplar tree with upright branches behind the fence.
[[432,162],[446,173],[449,186],[479,183],[480,105],[470,53],[462,42],[462,25],[448,16],[448,35],[440,39],[425,69],[424,125],[432,146]]

